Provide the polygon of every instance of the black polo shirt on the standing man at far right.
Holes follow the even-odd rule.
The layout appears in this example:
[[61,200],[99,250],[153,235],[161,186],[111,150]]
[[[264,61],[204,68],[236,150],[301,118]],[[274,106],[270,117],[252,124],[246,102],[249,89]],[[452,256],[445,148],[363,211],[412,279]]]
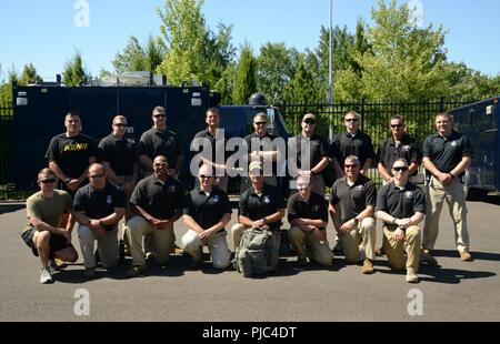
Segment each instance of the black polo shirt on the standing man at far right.
[[463,156],[472,155],[473,152],[469,139],[454,130],[451,131],[451,135],[448,139],[439,133],[434,133],[427,136],[423,142],[423,156],[429,158],[436,168],[443,173],[453,170]]

